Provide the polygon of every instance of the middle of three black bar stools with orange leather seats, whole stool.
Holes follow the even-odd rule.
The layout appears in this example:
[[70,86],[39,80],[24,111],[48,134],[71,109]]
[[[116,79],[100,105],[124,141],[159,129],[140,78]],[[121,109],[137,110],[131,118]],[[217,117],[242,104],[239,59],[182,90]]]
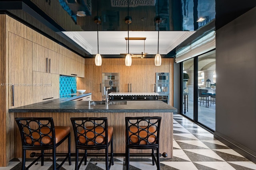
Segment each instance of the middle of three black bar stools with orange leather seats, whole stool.
[[[108,126],[107,117],[72,117],[70,118],[75,135],[76,165],[78,170],[84,160],[87,162],[87,150],[105,149],[106,170],[114,165],[113,152],[113,127]],[[110,162],[108,162],[108,147],[111,145]],[[84,156],[78,164],[78,151],[84,150]]]

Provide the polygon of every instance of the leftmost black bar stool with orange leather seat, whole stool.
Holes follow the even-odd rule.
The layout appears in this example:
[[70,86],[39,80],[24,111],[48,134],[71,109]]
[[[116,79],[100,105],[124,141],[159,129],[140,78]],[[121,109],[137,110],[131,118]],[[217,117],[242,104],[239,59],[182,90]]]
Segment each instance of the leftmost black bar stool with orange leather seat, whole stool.
[[[41,166],[44,165],[44,150],[52,149],[52,169],[58,170],[68,159],[71,165],[70,157],[70,127],[54,126],[52,117],[21,117],[15,118],[19,127],[22,141],[22,170],[25,170],[26,150],[41,150],[37,154],[38,158],[26,167],[30,168],[36,161],[41,158]],[[68,153],[62,163],[56,167],[56,147],[68,139]],[[32,157],[32,152],[30,156]],[[62,154],[63,156],[63,154]]]

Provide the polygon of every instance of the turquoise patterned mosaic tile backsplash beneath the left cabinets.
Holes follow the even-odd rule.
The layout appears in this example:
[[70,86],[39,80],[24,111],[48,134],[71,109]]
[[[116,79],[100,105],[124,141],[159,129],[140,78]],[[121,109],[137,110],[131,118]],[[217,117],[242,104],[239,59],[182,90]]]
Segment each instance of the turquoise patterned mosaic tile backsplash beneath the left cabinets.
[[60,98],[76,93],[76,77],[60,76]]

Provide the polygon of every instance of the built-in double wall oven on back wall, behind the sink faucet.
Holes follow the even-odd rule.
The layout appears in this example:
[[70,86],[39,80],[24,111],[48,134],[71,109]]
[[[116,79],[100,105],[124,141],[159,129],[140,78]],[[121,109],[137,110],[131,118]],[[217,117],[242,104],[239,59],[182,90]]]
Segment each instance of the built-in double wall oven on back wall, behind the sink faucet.
[[120,76],[118,72],[103,72],[102,73],[102,100],[106,100],[106,88],[108,94],[111,92],[119,92],[120,90]]

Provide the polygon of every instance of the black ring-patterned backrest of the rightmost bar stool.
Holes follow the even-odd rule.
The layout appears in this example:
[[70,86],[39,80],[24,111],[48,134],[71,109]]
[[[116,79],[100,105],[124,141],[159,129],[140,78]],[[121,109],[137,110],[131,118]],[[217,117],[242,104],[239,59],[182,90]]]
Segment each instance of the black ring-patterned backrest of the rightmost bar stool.
[[162,117],[125,117],[126,145],[159,145]]

